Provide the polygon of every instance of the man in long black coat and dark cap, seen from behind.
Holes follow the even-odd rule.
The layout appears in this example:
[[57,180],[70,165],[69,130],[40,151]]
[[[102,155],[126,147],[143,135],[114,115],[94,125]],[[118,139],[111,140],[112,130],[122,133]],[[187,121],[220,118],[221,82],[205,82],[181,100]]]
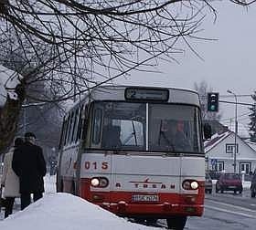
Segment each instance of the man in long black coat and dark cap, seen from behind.
[[25,142],[14,152],[13,170],[19,177],[19,193],[21,210],[25,209],[30,203],[31,193],[33,201],[43,197],[44,176],[47,168],[43,156],[42,148],[35,144],[36,135],[32,132],[25,133]]

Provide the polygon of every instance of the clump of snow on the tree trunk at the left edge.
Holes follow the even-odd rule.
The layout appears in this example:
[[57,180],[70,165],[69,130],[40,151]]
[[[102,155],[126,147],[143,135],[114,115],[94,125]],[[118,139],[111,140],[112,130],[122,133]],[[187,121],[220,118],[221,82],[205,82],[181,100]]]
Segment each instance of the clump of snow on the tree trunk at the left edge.
[[7,95],[10,99],[17,99],[15,89],[21,78],[20,74],[0,65],[0,108],[4,107]]

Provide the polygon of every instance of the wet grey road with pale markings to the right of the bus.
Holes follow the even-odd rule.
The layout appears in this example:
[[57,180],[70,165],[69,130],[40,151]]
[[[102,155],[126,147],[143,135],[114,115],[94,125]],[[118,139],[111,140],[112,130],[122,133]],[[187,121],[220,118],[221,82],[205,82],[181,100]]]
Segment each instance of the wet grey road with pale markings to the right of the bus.
[[256,199],[250,190],[242,194],[206,194],[202,217],[189,217],[185,229],[189,230],[244,230],[256,229]]

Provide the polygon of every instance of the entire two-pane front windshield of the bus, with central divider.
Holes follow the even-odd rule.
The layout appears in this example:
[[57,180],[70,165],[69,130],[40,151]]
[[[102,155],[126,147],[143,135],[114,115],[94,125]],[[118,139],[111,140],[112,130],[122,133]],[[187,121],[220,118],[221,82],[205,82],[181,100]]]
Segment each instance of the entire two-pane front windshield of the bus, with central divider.
[[[142,152],[202,152],[196,106],[94,102],[91,147]],[[147,142],[146,142],[147,141]]]

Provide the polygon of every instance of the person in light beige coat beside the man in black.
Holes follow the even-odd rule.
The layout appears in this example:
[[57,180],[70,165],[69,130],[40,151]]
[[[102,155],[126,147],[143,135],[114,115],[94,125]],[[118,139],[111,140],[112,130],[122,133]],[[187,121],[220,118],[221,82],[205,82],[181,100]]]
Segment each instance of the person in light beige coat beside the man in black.
[[5,154],[3,176],[1,178],[1,186],[5,187],[5,218],[13,213],[13,206],[16,197],[19,197],[19,179],[12,169],[12,161],[14,151],[23,144],[21,138],[16,138],[15,145]]

